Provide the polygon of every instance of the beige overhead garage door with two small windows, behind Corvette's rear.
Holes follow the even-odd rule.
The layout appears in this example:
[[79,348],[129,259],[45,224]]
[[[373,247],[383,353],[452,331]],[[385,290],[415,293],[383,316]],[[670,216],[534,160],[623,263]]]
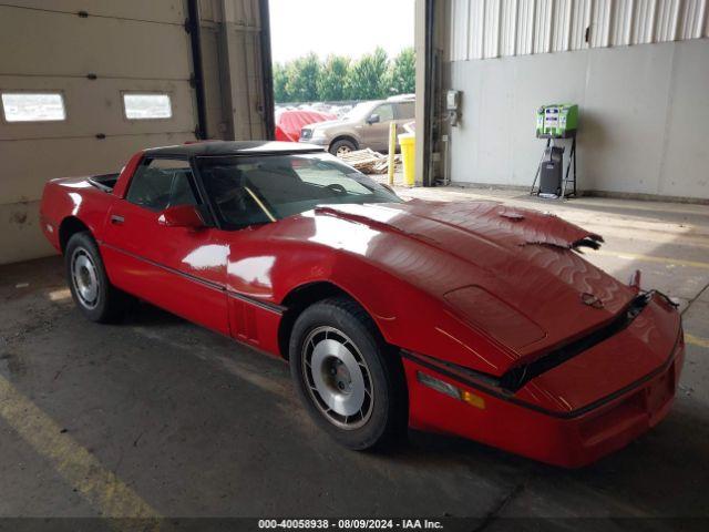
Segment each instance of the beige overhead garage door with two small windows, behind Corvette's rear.
[[195,137],[186,18],[183,0],[0,0],[0,264],[49,253],[48,180]]

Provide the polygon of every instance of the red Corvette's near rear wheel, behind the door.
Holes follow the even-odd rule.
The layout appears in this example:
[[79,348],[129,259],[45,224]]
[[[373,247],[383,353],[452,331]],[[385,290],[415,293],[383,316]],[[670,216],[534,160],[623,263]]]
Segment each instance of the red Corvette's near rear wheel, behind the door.
[[134,303],[132,296],[109,280],[99,247],[90,233],[76,233],[69,239],[64,266],[72,298],[91,321],[116,321]]

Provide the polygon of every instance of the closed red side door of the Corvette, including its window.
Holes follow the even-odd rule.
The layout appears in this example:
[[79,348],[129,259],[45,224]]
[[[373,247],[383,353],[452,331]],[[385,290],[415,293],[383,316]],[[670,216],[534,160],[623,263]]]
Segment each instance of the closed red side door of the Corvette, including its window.
[[228,334],[227,234],[160,223],[167,207],[207,217],[188,161],[147,158],[111,207],[101,243],[111,282],[184,318]]

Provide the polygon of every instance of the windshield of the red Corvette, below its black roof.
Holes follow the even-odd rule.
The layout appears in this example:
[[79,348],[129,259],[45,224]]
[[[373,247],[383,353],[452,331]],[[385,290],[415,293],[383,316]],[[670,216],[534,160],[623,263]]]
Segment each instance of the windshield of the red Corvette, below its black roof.
[[199,175],[227,228],[265,224],[318,205],[400,203],[330,154],[198,157]]

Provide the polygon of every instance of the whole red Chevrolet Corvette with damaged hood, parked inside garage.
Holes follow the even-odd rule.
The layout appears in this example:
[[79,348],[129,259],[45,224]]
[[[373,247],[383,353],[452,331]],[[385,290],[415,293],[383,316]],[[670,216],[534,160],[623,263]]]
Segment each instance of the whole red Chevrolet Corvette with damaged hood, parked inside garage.
[[402,202],[315,146],[145,150],[51,181],[41,226],[91,320],[144,299],[289,361],[351,449],[407,426],[579,467],[658,423],[684,359],[664,295],[602,238],[491,202]]

